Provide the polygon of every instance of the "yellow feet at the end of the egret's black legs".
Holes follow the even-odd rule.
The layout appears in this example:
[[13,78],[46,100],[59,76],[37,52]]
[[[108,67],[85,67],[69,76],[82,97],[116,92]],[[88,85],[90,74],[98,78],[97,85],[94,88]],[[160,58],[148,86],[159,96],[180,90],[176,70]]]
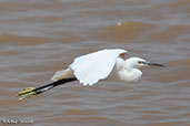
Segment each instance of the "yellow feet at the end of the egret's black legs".
[[23,91],[19,92],[17,94],[17,96],[20,96],[20,98],[18,98],[18,101],[22,101],[24,98],[28,98],[28,97],[31,97],[31,96],[36,95],[37,93],[33,92],[34,88],[36,87],[27,87]]

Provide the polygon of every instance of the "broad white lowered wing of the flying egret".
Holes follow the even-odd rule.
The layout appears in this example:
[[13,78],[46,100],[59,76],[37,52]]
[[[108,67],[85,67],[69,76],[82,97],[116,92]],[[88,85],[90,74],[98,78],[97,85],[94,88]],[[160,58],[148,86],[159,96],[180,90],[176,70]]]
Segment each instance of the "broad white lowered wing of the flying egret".
[[93,85],[111,73],[117,57],[122,53],[127,53],[127,51],[121,49],[101,50],[74,59],[70,67],[80,83]]

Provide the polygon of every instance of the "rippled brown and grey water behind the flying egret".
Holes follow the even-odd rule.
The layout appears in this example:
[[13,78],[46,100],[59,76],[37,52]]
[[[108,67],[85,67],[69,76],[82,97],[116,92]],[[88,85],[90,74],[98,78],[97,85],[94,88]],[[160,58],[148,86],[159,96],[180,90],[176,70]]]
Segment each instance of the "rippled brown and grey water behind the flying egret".
[[[1,0],[0,119],[34,126],[190,125],[189,12],[190,0]],[[76,56],[106,48],[167,66],[143,69],[136,84],[73,82],[17,101],[19,91],[50,83]]]

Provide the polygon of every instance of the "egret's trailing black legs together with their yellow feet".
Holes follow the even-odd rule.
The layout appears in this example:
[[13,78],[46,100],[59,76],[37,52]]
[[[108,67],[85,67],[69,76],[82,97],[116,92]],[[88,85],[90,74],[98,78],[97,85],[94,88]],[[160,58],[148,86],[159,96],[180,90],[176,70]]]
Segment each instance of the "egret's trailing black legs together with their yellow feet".
[[72,81],[76,81],[77,78],[76,77],[70,77],[70,78],[62,78],[62,80],[59,80],[59,81],[56,81],[53,83],[50,83],[50,84],[47,84],[47,85],[43,85],[43,86],[39,86],[39,87],[27,87],[24,88],[23,91],[19,92],[17,94],[17,96],[19,96],[20,98],[18,101],[22,101],[24,98],[28,98],[28,97],[32,97],[34,95],[38,95],[38,94],[41,94],[43,92],[47,92],[58,85],[62,85],[62,84],[66,84],[68,82],[72,82]]

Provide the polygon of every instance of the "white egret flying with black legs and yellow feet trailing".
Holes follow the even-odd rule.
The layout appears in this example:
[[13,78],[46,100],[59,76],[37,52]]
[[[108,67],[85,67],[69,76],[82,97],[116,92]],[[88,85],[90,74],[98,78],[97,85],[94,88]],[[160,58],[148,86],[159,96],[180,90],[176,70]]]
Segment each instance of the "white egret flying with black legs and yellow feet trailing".
[[74,59],[73,63],[63,71],[58,71],[52,77],[52,83],[40,87],[27,87],[18,93],[18,101],[43,93],[58,85],[78,80],[83,85],[93,85],[102,81],[137,82],[142,75],[139,67],[162,64],[151,63],[140,57],[124,60],[127,50],[106,49]]

